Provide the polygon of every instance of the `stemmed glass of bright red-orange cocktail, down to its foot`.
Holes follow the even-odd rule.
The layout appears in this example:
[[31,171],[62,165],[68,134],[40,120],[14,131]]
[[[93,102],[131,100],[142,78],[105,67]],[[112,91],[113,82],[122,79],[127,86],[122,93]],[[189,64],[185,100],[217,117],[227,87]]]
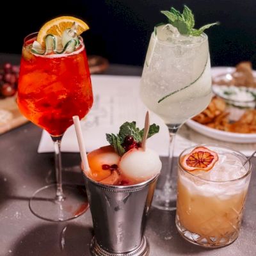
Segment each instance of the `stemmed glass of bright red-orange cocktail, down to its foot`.
[[70,220],[86,211],[86,195],[76,186],[62,185],[60,145],[64,132],[73,123],[72,116],[83,118],[92,107],[88,61],[80,36],[76,37],[79,42],[75,42],[74,49],[60,49],[60,44],[54,48],[49,42],[45,50],[36,49],[36,38],[38,33],[24,39],[17,102],[21,113],[49,132],[54,141],[56,184],[36,191],[29,207],[45,220]]

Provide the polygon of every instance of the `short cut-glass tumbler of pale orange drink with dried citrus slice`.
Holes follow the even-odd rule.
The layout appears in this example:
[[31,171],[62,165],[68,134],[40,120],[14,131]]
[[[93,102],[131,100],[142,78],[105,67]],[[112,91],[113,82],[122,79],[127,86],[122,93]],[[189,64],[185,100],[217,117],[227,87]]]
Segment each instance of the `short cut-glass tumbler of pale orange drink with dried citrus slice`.
[[176,226],[185,239],[205,247],[236,240],[251,175],[245,161],[230,148],[200,146],[182,152]]

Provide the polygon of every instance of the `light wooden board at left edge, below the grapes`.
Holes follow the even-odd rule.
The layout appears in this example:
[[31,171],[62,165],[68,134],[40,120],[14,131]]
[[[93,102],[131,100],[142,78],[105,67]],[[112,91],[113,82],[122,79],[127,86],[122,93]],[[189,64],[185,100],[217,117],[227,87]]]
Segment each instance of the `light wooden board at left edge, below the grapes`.
[[28,119],[22,116],[19,111],[16,97],[15,95],[0,99],[0,134],[28,122]]

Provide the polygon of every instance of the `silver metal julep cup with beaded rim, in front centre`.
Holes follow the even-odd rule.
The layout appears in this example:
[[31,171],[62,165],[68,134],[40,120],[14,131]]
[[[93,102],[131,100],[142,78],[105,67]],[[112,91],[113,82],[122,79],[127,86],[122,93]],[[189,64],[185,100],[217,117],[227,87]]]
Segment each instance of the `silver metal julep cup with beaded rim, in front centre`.
[[157,177],[132,186],[111,186],[84,175],[95,234],[93,256],[148,255],[144,230]]

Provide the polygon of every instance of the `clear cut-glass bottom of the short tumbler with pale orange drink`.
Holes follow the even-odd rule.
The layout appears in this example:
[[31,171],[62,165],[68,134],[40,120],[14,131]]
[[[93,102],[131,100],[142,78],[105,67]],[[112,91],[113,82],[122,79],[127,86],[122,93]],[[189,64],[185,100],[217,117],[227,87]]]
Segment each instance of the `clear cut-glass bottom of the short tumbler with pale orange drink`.
[[225,236],[218,234],[218,236],[202,236],[187,230],[179,221],[179,216],[176,216],[175,221],[177,230],[180,235],[190,243],[205,247],[205,248],[221,248],[233,243],[238,237],[238,230]]

